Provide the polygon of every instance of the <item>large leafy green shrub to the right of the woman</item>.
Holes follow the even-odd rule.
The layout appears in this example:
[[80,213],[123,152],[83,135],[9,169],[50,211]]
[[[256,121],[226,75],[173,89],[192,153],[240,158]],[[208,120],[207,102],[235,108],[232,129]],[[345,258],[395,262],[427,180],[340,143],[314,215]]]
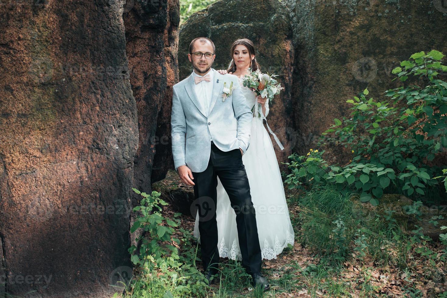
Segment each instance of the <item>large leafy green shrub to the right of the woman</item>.
[[324,151],[292,154],[285,163],[292,172],[286,180],[289,188],[334,183],[343,193],[354,190],[363,202],[377,205],[391,183],[408,196],[424,195],[424,188],[438,184],[432,177],[441,168],[428,167],[425,162],[447,145],[447,83],[437,79],[439,72],[447,71],[443,57],[435,50],[416,53],[392,71],[402,82],[413,75],[418,83],[428,84],[424,88],[415,84],[397,87],[384,92],[388,99],[383,101],[367,99],[365,89],[359,97],[347,100],[352,104],[350,117],[334,119],[318,146],[325,139],[344,145],[353,153],[350,164],[328,166]]

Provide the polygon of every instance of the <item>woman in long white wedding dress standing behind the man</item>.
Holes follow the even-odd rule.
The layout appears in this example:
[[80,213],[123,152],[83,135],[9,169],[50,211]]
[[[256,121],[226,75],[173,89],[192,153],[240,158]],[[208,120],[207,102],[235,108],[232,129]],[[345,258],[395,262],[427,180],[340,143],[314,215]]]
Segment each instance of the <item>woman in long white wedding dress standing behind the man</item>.
[[[249,178],[250,193],[256,210],[257,232],[262,259],[271,260],[275,259],[287,247],[287,244],[293,245],[295,233],[289,217],[278,161],[270,136],[263,124],[263,120],[269,113],[269,101],[266,98],[261,98],[261,96],[256,96],[255,92],[242,84],[243,77],[249,73],[248,68],[251,67],[252,71],[255,71],[259,67],[252,41],[246,38],[234,41],[230,53],[232,60],[228,65],[228,70],[218,71],[221,74],[230,73],[239,78],[245,98],[254,110],[249,149],[242,156],[242,162]],[[283,145],[268,124],[267,128],[282,150]],[[232,260],[240,260],[236,214],[219,178],[217,178],[217,181],[216,220],[219,255]],[[197,214],[194,236],[199,238],[199,235]]]

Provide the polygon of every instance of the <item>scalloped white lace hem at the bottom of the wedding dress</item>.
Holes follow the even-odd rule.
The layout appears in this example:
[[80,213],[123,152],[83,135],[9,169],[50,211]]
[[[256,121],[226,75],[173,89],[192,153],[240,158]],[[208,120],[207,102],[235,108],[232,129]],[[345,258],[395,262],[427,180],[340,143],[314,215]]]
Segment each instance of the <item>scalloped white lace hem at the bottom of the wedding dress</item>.
[[[264,239],[264,248],[262,248],[261,251],[261,258],[266,260],[276,259],[276,257],[283,252],[283,249],[287,247],[287,244],[293,245],[295,239],[292,237],[292,234],[287,231],[286,232],[286,241],[284,244],[281,244],[279,242],[278,236],[275,237],[275,245],[274,248],[270,247],[269,241],[267,239]],[[219,248],[219,256],[231,260],[241,260],[242,254],[240,253],[239,245],[237,245],[236,239],[233,240],[233,243],[231,245],[231,249],[228,249],[227,245],[225,245],[225,238],[222,238],[220,241],[220,248]]]

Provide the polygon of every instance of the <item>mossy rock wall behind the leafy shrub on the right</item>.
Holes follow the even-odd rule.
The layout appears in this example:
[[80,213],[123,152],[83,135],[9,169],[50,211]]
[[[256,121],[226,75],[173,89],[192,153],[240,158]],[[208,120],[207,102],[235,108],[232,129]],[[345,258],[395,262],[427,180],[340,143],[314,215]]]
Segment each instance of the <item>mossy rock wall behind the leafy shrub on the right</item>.
[[[347,99],[396,87],[391,71],[413,53],[447,53],[445,1],[285,0],[291,10],[295,72],[292,97],[299,153],[315,148],[334,118],[348,116]],[[444,80],[447,79],[444,76]],[[331,162],[340,161],[332,148]],[[331,148],[329,148],[331,151]],[[346,157],[346,161],[349,160]]]

